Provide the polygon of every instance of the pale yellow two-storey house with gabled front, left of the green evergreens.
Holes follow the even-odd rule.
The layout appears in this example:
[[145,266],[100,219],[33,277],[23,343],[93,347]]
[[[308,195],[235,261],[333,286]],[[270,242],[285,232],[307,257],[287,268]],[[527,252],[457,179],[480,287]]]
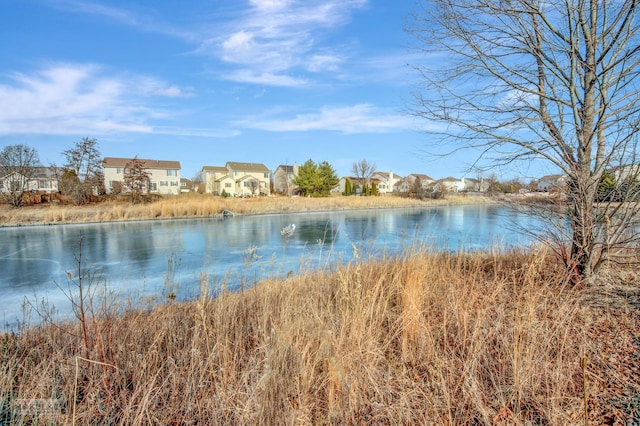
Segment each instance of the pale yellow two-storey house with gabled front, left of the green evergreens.
[[222,166],[202,168],[204,190],[207,194],[234,197],[270,195],[271,171],[264,164],[228,161]]

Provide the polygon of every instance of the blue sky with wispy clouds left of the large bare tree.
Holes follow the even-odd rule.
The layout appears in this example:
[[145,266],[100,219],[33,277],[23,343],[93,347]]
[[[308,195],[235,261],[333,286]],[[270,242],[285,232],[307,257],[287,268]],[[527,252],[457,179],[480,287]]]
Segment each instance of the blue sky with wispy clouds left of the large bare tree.
[[183,177],[227,161],[273,170],[309,158],[339,175],[366,158],[400,175],[462,177],[473,154],[427,155],[428,125],[406,113],[418,82],[409,64],[421,59],[404,32],[414,8],[5,1],[0,148],[26,144],[61,165],[63,150],[91,137],[104,156],[178,160]]

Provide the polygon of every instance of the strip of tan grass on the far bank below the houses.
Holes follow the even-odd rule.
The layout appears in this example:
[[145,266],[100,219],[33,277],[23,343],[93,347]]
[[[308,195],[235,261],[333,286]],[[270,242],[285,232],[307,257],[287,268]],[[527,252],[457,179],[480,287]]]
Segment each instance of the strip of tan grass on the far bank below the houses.
[[192,194],[136,205],[126,200],[106,201],[87,206],[46,204],[20,209],[2,205],[0,206],[0,226],[214,217],[222,214],[224,210],[230,210],[236,214],[293,213],[489,201],[484,197],[461,195],[448,196],[443,200],[420,201],[400,197],[221,198]]

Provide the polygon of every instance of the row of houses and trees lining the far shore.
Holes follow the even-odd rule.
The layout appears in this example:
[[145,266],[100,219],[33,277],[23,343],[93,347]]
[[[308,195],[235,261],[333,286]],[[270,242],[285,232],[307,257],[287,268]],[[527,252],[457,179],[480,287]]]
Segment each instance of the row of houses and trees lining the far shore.
[[[84,143],[85,149],[87,146],[93,149],[97,144],[91,139],[85,139]],[[94,157],[96,152],[92,153]],[[44,167],[39,164],[27,165],[28,167],[22,167],[24,165],[0,167],[0,195],[4,194],[3,198],[7,200],[7,194],[17,192],[64,194],[69,191],[70,179],[72,182],[88,180],[91,174],[90,187],[85,188],[85,191],[94,196],[101,193],[127,194],[133,191],[173,196],[191,192],[240,198],[273,195],[300,196],[308,194],[308,188],[301,188],[299,185],[300,171],[308,165],[307,163],[311,162],[313,167],[320,165],[329,167],[331,173],[334,173],[327,162],[315,165],[311,160],[303,166],[298,163],[279,164],[273,169],[264,163],[226,161],[224,165],[221,165],[222,162],[218,165],[203,165],[197,176],[193,178],[183,175],[181,163],[177,159],[100,157],[100,159],[94,158],[93,162],[91,173],[88,172],[88,165],[81,167],[74,166],[72,163],[65,167],[53,165]],[[354,163],[354,172],[357,171],[356,163]],[[360,160],[360,163],[372,167],[366,174],[359,173],[359,176],[335,176],[335,181],[326,188],[324,195],[397,195],[437,198],[446,193],[557,194],[561,193],[567,185],[567,177],[562,174],[545,175],[525,185],[517,179],[499,182],[495,175],[483,177],[477,174],[474,177],[459,178],[447,176],[436,179],[426,173],[415,172],[401,176],[390,170],[378,170],[375,164],[367,164],[366,160]],[[137,168],[137,176],[134,168]],[[638,166],[618,166],[611,168],[607,173],[615,181],[623,182],[638,175]],[[317,195],[319,194],[314,196]],[[20,199],[14,199],[11,202],[17,205]]]

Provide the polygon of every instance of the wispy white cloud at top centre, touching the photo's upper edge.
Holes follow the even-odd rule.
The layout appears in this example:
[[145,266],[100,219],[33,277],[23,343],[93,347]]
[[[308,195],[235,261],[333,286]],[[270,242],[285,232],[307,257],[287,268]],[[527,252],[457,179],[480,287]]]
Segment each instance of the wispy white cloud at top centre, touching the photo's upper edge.
[[[204,40],[201,52],[211,52],[236,68],[223,78],[243,83],[293,86],[309,78],[289,80],[247,79],[246,76],[293,75],[296,72],[334,71],[343,61],[322,46],[324,33],[344,24],[365,0],[251,0],[251,8],[240,19],[225,25],[224,35]],[[239,78],[240,77],[240,78]]]

